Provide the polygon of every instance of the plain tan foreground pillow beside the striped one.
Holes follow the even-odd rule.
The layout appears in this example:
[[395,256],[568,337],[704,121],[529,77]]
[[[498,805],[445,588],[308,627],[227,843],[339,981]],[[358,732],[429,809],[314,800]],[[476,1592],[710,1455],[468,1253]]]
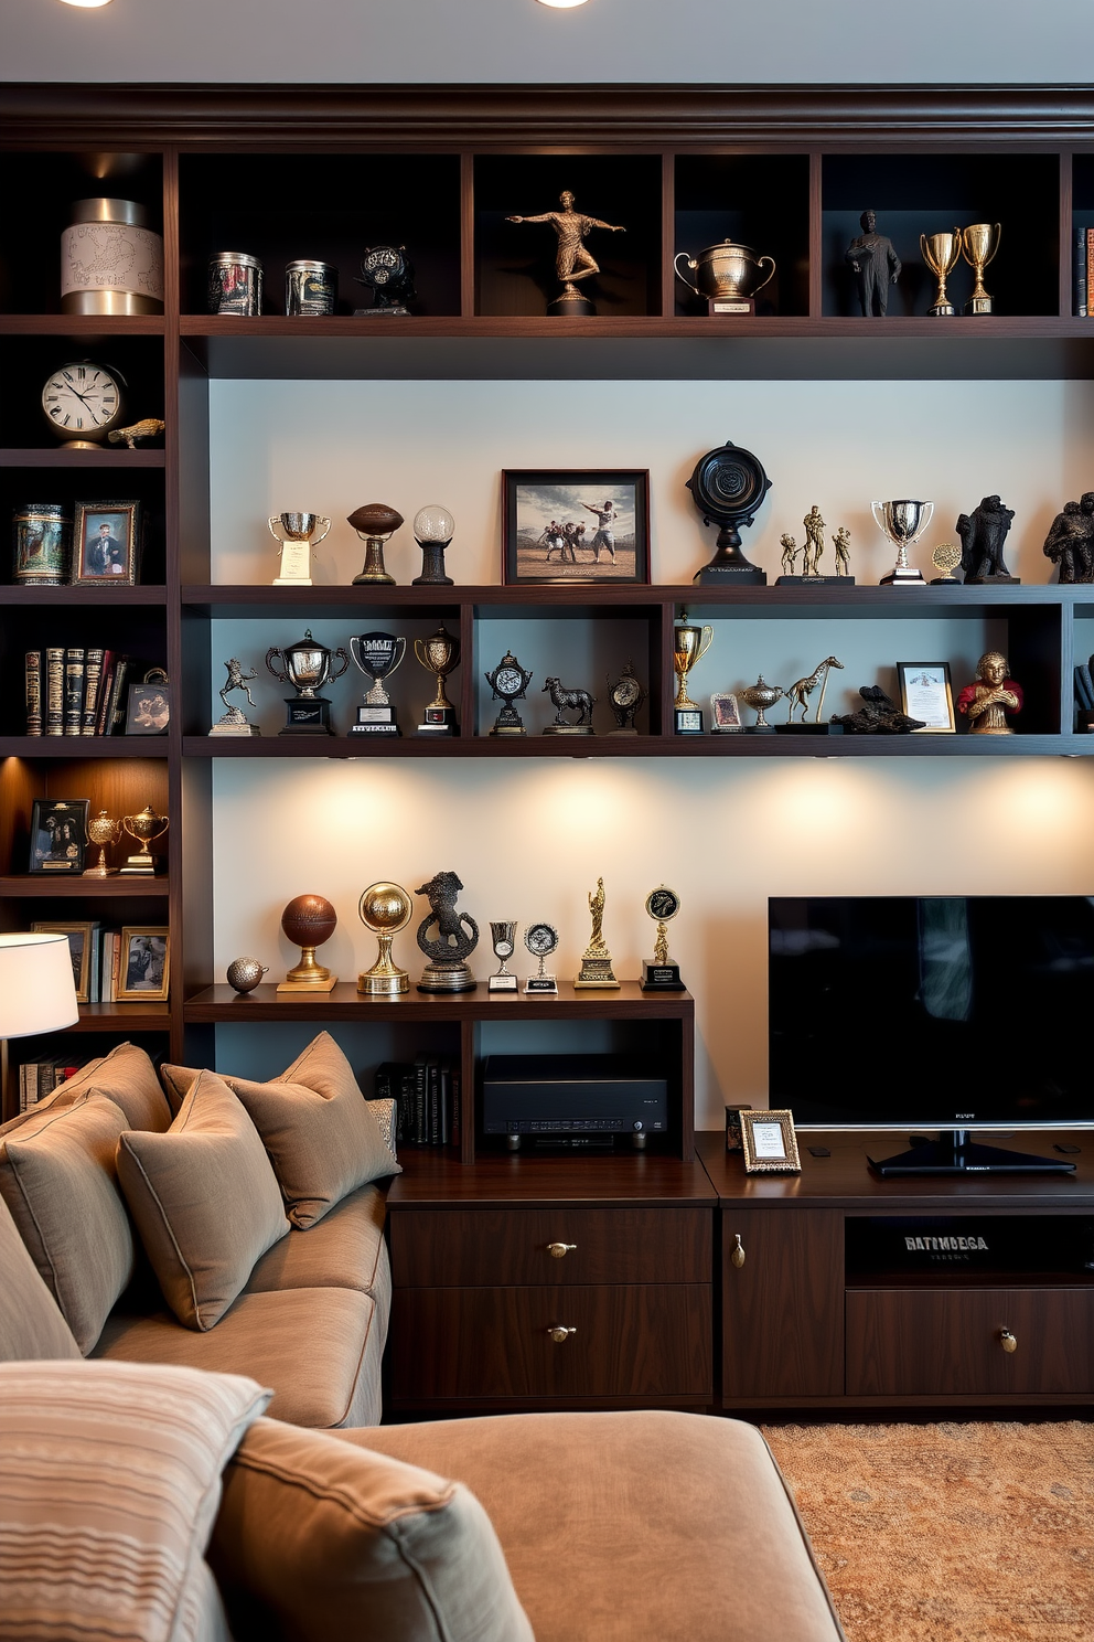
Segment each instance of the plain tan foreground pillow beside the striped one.
[[271,1419],[225,1471],[210,1562],[238,1642],[533,1642],[461,1483]]

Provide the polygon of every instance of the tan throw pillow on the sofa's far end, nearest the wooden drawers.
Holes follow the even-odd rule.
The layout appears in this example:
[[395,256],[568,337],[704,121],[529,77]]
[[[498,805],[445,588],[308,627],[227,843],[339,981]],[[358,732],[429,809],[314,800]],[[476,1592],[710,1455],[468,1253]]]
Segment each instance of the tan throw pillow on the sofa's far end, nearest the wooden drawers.
[[[175,1092],[185,1076],[187,1067],[166,1069]],[[262,1136],[294,1225],[312,1227],[358,1186],[402,1174],[330,1033],[269,1082],[228,1074],[225,1082]]]

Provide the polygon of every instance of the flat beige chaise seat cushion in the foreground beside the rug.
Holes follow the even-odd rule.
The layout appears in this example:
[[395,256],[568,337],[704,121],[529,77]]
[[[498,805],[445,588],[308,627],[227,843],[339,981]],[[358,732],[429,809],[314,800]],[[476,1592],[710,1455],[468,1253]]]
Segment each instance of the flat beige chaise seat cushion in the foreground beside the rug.
[[536,1642],[840,1642],[763,1437],[702,1414],[510,1414],[344,1442],[482,1501]]

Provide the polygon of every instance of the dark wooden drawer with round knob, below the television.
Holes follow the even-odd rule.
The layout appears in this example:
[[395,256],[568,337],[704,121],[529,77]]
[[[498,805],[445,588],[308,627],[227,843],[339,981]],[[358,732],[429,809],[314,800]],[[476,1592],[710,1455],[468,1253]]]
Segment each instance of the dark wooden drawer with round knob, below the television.
[[[1009,1328],[1017,1350],[1004,1351]],[[1094,1392],[1094,1289],[851,1289],[850,1396]]]

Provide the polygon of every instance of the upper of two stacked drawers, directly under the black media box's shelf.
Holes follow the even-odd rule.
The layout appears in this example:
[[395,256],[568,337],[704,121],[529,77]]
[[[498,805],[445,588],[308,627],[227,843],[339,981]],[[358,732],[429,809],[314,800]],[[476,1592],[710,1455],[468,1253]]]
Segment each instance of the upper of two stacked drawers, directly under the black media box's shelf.
[[390,1238],[399,1289],[710,1282],[707,1209],[395,1210]]

